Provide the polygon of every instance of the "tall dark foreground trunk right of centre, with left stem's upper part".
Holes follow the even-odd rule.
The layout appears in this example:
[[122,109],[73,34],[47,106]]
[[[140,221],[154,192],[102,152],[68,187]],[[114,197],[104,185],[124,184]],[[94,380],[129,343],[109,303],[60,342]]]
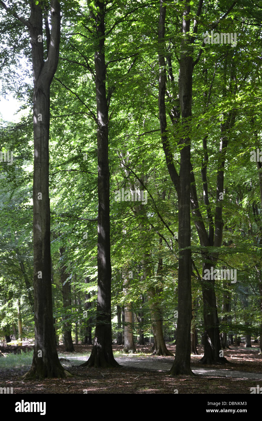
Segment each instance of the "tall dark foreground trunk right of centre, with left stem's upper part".
[[[165,66],[164,51],[164,23],[166,7],[161,0],[159,19],[159,67]],[[190,5],[186,4],[182,19],[182,41],[180,53],[179,102],[182,125],[185,138],[180,140],[183,149],[180,151],[180,194],[178,195],[178,319],[175,361],[170,370],[172,376],[188,374],[193,376],[190,368],[191,358],[191,210],[190,210],[190,176],[191,176],[191,138],[190,120],[192,116],[192,75],[193,75],[193,47],[191,45]],[[161,133],[167,128],[166,113],[164,112],[165,72],[160,70],[159,78],[159,110]],[[162,80],[163,79],[163,80]],[[163,113],[161,113],[163,110]],[[164,118],[163,118],[164,117]]]

